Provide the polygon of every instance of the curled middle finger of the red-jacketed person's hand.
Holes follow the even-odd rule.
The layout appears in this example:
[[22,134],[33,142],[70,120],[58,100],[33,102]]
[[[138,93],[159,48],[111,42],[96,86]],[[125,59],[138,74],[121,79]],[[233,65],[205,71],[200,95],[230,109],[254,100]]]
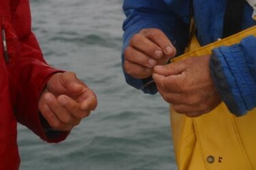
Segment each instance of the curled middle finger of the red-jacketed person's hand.
[[57,100],[75,118],[79,118],[79,119],[85,118],[85,117],[89,116],[89,114],[91,112],[90,109],[83,109],[81,107],[81,103],[77,103],[76,101],[74,101],[70,97],[67,97],[66,95],[59,96]]

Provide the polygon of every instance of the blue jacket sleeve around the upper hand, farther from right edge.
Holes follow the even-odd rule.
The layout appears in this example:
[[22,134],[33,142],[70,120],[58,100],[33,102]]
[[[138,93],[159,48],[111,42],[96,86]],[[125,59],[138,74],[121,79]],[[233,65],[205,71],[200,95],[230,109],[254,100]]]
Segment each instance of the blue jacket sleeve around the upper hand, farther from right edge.
[[[177,11],[177,9],[179,10]],[[177,55],[184,52],[184,48],[188,41],[189,1],[124,0],[123,10],[127,17],[123,24],[123,66],[124,50],[128,47],[130,38],[135,33],[139,33],[142,29],[160,29],[172,42],[175,41]],[[126,82],[137,89],[140,89],[145,83],[152,80],[152,78],[146,78],[144,80],[132,78],[125,71],[124,76]],[[155,84],[151,84],[142,90],[143,92],[150,94],[155,94],[157,92]]]

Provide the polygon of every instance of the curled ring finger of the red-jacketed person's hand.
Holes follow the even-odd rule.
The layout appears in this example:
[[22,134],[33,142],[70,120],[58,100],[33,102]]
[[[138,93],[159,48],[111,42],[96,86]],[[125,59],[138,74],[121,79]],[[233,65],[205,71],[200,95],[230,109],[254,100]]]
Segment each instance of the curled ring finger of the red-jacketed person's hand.
[[68,110],[59,104],[57,99],[51,93],[46,93],[46,95],[44,95],[44,99],[48,107],[59,119],[59,121],[61,121],[63,124],[70,124],[72,120],[71,114],[68,112]]

